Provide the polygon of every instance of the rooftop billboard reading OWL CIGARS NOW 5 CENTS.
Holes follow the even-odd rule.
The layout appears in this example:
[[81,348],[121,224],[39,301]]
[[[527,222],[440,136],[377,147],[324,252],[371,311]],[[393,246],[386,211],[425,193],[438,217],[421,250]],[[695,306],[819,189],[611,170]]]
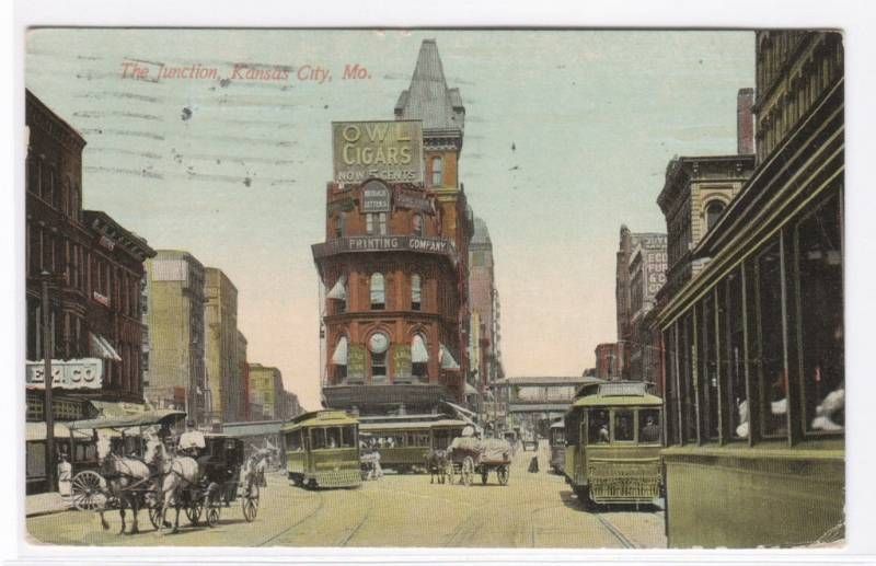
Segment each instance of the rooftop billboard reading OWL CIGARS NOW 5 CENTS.
[[333,122],[335,183],[423,183],[423,123]]

